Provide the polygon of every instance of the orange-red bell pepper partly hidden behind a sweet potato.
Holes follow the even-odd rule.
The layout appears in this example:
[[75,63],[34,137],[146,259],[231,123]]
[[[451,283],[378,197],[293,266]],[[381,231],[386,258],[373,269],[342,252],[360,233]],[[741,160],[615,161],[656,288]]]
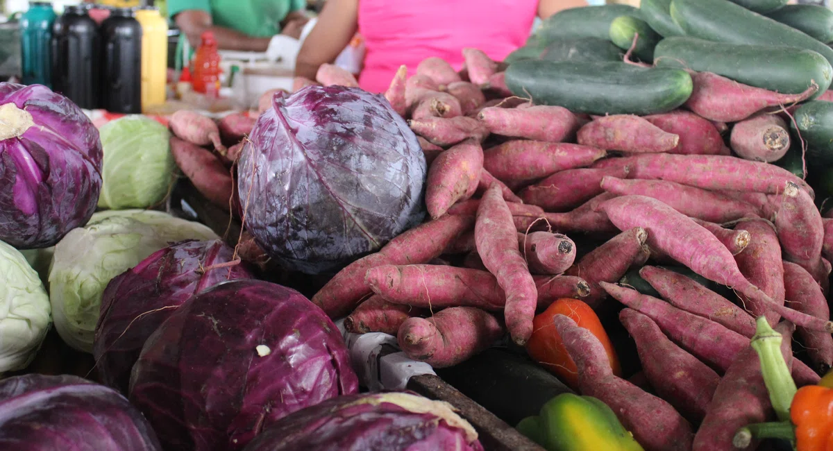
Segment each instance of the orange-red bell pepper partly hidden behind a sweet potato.
[[556,331],[553,319],[556,315],[566,315],[576,321],[576,325],[590,330],[605,346],[607,356],[611,360],[613,374],[621,376],[621,367],[611,339],[601,326],[599,317],[590,305],[581,300],[564,298],[556,300],[543,313],[536,315],[532,321],[532,336],[526,342],[526,352],[552,374],[556,374],[561,381],[573,389],[578,387],[578,368],[570,358],[561,337]]

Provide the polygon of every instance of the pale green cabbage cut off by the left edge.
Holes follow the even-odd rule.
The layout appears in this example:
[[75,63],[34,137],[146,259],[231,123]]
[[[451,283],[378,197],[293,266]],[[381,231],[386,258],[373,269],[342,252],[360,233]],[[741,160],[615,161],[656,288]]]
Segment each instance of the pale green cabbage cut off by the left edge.
[[20,251],[0,241],[0,373],[24,369],[47,336],[49,296]]

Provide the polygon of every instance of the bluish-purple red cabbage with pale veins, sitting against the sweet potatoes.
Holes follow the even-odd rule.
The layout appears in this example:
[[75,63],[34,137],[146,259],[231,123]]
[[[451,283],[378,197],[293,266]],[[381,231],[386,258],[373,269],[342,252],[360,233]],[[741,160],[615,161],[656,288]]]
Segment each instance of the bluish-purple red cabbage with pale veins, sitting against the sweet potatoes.
[[425,156],[381,95],[277,93],[250,139],[237,175],[246,226],[287,269],[335,272],[425,215]]

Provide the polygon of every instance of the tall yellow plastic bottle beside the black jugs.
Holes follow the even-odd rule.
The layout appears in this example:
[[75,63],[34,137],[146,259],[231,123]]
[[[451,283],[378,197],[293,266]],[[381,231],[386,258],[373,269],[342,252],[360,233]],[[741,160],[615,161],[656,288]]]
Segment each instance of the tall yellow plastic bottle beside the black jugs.
[[167,22],[155,7],[136,11],[142,24],[142,111],[165,103],[167,87]]

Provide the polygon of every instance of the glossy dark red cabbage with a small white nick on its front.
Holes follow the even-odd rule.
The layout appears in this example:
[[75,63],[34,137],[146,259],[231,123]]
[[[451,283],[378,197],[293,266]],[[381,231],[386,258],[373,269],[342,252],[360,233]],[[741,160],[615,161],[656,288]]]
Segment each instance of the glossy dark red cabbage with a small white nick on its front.
[[231,280],[185,301],[147,339],[129,398],[165,449],[234,451],[287,414],[357,390],[323,310],[282,285]]

